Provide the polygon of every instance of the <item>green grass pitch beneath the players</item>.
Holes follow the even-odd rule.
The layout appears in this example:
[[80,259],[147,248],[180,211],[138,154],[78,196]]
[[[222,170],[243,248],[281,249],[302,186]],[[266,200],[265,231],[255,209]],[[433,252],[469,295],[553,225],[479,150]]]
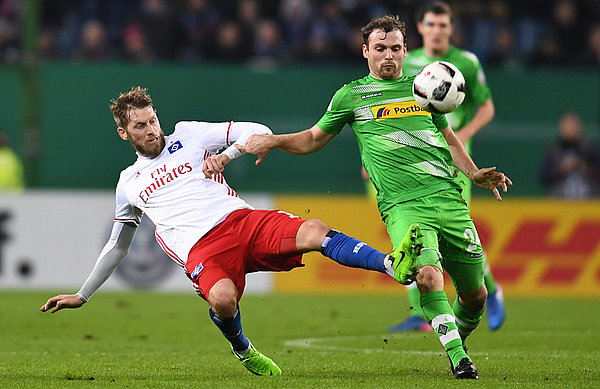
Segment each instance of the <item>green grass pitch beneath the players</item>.
[[480,372],[456,381],[432,334],[390,334],[393,296],[244,296],[244,333],[283,370],[256,377],[193,294],[99,292],[39,312],[54,293],[0,292],[1,388],[600,387],[598,300],[509,299],[508,320],[468,341]]

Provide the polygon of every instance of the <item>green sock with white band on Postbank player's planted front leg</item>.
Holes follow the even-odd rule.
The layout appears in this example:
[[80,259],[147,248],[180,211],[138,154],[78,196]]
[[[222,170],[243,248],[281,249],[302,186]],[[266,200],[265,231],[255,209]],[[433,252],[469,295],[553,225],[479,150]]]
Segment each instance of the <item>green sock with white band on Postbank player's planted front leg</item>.
[[452,366],[456,367],[463,358],[468,358],[456,327],[456,320],[448,297],[443,290],[434,290],[421,296],[421,307],[427,321],[448,353]]

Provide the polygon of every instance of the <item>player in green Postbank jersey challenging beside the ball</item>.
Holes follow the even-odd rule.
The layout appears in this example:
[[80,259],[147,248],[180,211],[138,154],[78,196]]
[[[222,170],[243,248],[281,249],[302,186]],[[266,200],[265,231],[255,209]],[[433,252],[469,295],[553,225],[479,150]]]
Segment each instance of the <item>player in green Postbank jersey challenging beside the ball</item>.
[[[475,185],[492,190],[498,200],[498,188],[506,192],[512,183],[495,167],[477,168],[445,116],[417,105],[414,76],[402,73],[404,22],[397,16],[375,18],[362,33],[369,74],[339,89],[317,124],[297,133],[252,135],[238,148],[257,155],[258,165],[274,148],[292,154],[316,152],[349,124],[394,248],[402,245],[413,223],[424,234],[415,269],[420,304],[455,377],[478,378],[464,343],[479,324],[487,297],[483,250],[452,165]],[[444,292],[442,268],[458,294],[453,307]]]

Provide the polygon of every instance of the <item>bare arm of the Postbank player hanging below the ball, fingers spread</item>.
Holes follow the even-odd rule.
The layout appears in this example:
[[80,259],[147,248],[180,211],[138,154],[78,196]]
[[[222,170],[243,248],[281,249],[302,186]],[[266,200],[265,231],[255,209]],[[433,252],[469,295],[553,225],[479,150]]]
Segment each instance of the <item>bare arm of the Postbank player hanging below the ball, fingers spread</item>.
[[450,126],[440,131],[444,135],[446,143],[448,143],[454,166],[463,172],[478,187],[491,189],[498,201],[502,201],[502,197],[500,196],[497,187],[501,187],[503,191],[506,192],[508,190],[507,185],[512,186],[512,181],[503,173],[497,172],[495,167],[479,169]]

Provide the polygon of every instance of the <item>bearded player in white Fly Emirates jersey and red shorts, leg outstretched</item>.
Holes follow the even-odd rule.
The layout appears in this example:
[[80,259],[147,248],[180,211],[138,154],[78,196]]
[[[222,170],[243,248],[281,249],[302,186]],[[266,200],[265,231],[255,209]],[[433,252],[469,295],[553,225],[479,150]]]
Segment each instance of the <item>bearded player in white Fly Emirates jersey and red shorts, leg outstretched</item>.
[[317,219],[255,210],[238,197],[222,172],[243,154],[238,146],[251,135],[271,134],[266,126],[179,122],[165,136],[141,87],[113,100],[111,111],[119,136],[131,142],[138,158],[121,172],[111,236],[91,274],[76,294],[48,299],[42,312],[86,303],[125,258],[143,214],[155,224],[160,246],[208,302],[209,315],[233,354],[257,375],[280,375],[281,369],[242,331],[238,302],[247,273],[304,266],[302,253],[320,250],[345,266],[379,271],[405,285],[412,281],[422,248],[418,225],[410,226],[402,245],[386,255]]

